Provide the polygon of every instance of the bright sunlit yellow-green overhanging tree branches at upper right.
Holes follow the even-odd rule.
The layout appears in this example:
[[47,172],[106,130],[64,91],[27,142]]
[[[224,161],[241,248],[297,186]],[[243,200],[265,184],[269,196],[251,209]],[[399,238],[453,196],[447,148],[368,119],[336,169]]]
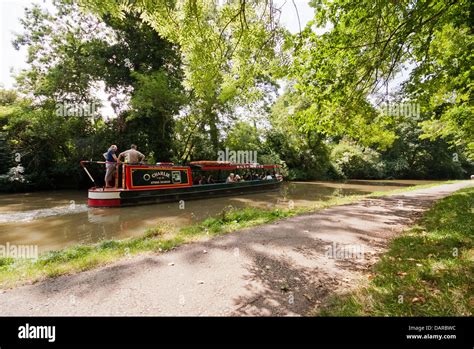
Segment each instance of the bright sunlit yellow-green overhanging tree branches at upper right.
[[[458,32],[469,30],[463,15],[469,12],[469,1],[314,0],[312,5],[313,22],[294,39],[290,76],[298,93],[311,101],[296,119],[307,128],[346,134],[367,144],[386,136],[394,140],[385,131],[390,120],[373,110],[368,97],[387,86],[407,63],[427,64],[437,45],[436,33],[445,25]],[[314,27],[327,31],[317,34]],[[436,74],[455,78],[448,66],[439,68]],[[411,79],[421,77],[422,71],[429,69],[416,71]]]

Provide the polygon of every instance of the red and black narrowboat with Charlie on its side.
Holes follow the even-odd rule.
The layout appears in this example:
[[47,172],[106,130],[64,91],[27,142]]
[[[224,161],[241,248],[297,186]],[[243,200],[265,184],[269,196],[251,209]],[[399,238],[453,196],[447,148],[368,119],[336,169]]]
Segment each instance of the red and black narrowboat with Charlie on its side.
[[[283,181],[279,165],[193,161],[186,166],[173,163],[116,166],[115,186],[99,187],[87,164],[103,161],[81,161],[82,168],[94,183],[88,192],[90,207],[120,207],[149,203],[203,199],[276,189]],[[238,174],[238,182],[226,183],[230,173]]]

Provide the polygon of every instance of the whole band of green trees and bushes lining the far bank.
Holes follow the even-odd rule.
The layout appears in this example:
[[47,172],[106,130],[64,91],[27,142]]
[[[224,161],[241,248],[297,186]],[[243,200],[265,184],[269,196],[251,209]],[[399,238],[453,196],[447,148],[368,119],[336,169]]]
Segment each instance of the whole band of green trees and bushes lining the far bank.
[[[78,161],[101,159],[112,143],[136,143],[151,162],[255,150],[288,179],[474,170],[465,0],[315,0],[314,20],[293,36],[263,0],[54,4],[54,16],[28,8],[13,43],[27,48],[29,67],[18,91],[0,91],[2,190],[88,185]],[[374,100],[407,63],[415,68],[390,100],[419,103],[421,114],[384,115]],[[56,113],[64,103],[100,106],[99,88],[116,118]],[[15,153],[24,182],[8,179]]]

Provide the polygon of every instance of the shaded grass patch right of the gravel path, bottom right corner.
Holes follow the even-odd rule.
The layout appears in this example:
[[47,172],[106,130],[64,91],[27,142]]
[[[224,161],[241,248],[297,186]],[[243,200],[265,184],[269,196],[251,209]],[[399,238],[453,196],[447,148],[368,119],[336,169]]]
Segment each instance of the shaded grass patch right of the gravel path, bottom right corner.
[[371,276],[316,315],[472,316],[474,188],[440,200],[392,240]]

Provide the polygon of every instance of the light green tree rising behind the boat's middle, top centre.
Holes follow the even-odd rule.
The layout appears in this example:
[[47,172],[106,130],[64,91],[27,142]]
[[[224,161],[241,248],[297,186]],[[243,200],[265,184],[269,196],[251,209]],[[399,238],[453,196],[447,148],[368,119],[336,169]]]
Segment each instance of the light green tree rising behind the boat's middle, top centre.
[[[214,0],[81,0],[98,14],[123,18],[136,14],[159,35],[180,47],[184,85],[193,115],[208,127],[213,151],[220,145],[219,116],[232,102],[260,96],[277,66],[275,47],[283,30],[272,2],[240,0],[221,6]],[[239,98],[237,98],[239,96]]]

